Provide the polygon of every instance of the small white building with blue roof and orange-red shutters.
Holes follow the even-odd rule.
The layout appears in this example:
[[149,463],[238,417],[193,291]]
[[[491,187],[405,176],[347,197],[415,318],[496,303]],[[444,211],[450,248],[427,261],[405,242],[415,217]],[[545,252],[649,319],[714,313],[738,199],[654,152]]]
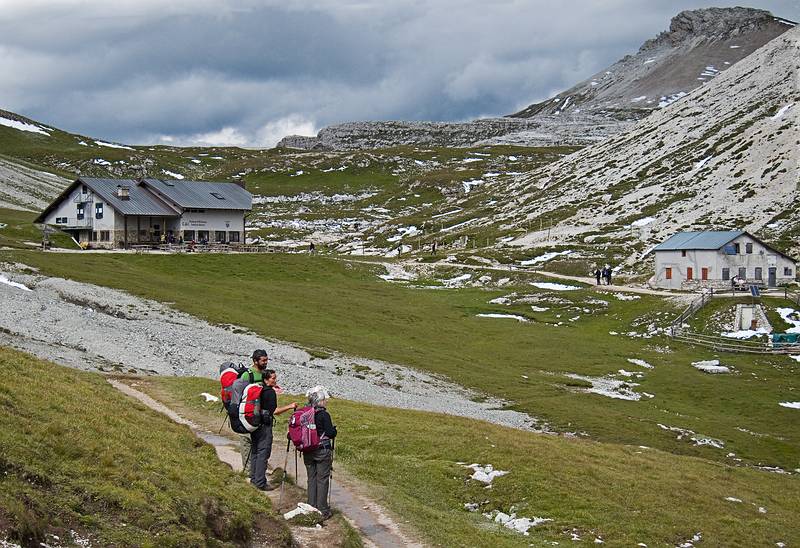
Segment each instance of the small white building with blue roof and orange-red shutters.
[[652,252],[650,284],[664,289],[729,289],[737,281],[777,287],[796,275],[795,259],[743,230],[678,232]]

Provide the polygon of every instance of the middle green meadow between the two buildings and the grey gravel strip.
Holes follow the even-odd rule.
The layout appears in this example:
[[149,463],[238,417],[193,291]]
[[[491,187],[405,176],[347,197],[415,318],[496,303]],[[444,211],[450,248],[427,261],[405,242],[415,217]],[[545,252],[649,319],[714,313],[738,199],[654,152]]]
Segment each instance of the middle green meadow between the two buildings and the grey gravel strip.
[[[376,276],[384,272],[378,265],[307,255],[5,256],[47,274],[172,302],[211,322],[245,326],[307,348],[444,374],[510,400],[515,409],[560,431],[719,462],[800,468],[797,411],[778,405],[797,399],[800,366],[782,356],[722,355],[733,374],[702,373],[691,363],[713,359],[713,352],[649,334],[651,324],[666,325],[676,312],[660,298],[620,301],[589,288],[547,291],[528,285],[534,276],[521,274],[502,291],[433,291],[386,283]],[[548,310],[534,311],[524,301],[489,302],[512,292]],[[514,313],[531,321],[476,317],[479,313]],[[633,375],[623,377],[621,369]],[[567,374],[614,375],[641,399],[586,393],[590,383]],[[692,440],[676,428],[721,443]]]

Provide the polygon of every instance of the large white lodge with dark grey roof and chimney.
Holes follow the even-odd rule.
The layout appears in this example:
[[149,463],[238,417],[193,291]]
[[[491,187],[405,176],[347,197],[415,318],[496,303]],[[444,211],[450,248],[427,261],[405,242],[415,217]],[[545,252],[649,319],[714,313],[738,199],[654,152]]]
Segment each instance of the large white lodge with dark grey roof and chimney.
[[34,222],[86,247],[161,242],[238,244],[253,197],[236,183],[81,177]]

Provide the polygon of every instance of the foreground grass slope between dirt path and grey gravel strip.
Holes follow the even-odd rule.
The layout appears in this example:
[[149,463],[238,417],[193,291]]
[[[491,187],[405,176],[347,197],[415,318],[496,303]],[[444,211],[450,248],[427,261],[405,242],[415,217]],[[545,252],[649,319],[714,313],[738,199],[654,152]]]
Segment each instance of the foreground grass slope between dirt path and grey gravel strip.
[[[215,390],[213,380],[136,382],[198,421],[219,422],[216,406],[200,396]],[[797,477],[338,399],[328,409],[339,428],[337,462],[369,482],[370,493],[431,544],[592,545],[602,539],[609,546],[675,546],[697,533],[710,546],[800,541],[794,524]],[[276,429],[284,428],[282,419]],[[459,463],[490,463],[509,474],[486,489],[469,480],[472,471]],[[465,509],[471,502],[479,511]],[[524,536],[482,515],[497,510],[552,521]],[[582,542],[570,540],[573,535]]]

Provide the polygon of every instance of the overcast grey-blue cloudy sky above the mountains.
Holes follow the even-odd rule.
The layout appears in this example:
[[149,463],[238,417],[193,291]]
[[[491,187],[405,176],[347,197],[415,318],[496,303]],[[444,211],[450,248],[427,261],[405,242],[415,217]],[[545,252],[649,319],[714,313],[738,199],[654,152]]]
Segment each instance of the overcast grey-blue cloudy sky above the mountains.
[[[571,87],[691,0],[0,0],[0,108],[132,144],[272,146]],[[800,0],[750,3],[800,20]]]

